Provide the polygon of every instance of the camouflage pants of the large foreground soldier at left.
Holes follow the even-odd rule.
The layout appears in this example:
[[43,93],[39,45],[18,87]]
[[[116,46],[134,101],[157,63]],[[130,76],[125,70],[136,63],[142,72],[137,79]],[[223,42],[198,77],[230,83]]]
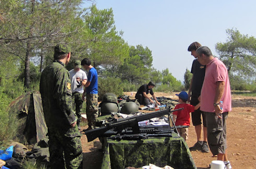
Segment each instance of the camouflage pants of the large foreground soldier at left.
[[78,131],[66,135],[54,131],[48,132],[48,135],[51,169],[83,168],[81,134]]

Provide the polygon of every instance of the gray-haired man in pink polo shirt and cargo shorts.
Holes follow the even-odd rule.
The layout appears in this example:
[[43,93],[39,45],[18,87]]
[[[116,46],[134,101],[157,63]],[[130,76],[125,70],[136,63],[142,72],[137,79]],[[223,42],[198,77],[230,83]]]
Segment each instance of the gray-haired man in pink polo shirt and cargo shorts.
[[[213,57],[212,51],[202,46],[196,49],[202,65],[206,65],[204,83],[201,90],[201,108],[205,112],[208,145],[217,160],[224,161],[231,168],[227,158],[226,119],[231,111],[231,93],[228,71],[225,64]],[[223,101],[223,107],[219,102]]]

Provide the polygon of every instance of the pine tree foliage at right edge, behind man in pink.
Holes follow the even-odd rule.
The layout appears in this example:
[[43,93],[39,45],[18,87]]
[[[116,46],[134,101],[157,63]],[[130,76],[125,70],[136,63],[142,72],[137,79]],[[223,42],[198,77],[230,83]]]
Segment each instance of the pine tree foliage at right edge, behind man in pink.
[[230,76],[249,82],[256,76],[256,38],[242,35],[237,29],[226,30],[226,43],[217,43],[219,58],[226,64]]

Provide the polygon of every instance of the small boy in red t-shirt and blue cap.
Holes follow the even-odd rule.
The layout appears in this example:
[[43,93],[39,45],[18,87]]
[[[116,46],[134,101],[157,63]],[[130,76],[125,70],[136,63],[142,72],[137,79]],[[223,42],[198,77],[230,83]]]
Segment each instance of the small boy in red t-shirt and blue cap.
[[200,107],[200,102],[196,106],[192,106],[187,104],[189,99],[189,95],[187,92],[182,91],[179,95],[179,104],[176,105],[174,109],[184,108],[183,110],[174,111],[173,114],[173,121],[178,129],[178,132],[184,140],[188,139],[189,136],[189,126],[190,126],[190,113],[194,112]]

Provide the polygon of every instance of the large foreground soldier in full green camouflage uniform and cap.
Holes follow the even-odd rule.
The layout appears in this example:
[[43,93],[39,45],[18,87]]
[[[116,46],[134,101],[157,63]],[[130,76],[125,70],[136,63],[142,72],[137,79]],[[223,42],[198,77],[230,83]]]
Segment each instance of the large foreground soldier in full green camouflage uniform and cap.
[[72,110],[71,80],[65,68],[70,57],[68,45],[56,45],[54,61],[43,70],[40,80],[52,169],[83,167],[81,134],[76,125],[77,116]]

